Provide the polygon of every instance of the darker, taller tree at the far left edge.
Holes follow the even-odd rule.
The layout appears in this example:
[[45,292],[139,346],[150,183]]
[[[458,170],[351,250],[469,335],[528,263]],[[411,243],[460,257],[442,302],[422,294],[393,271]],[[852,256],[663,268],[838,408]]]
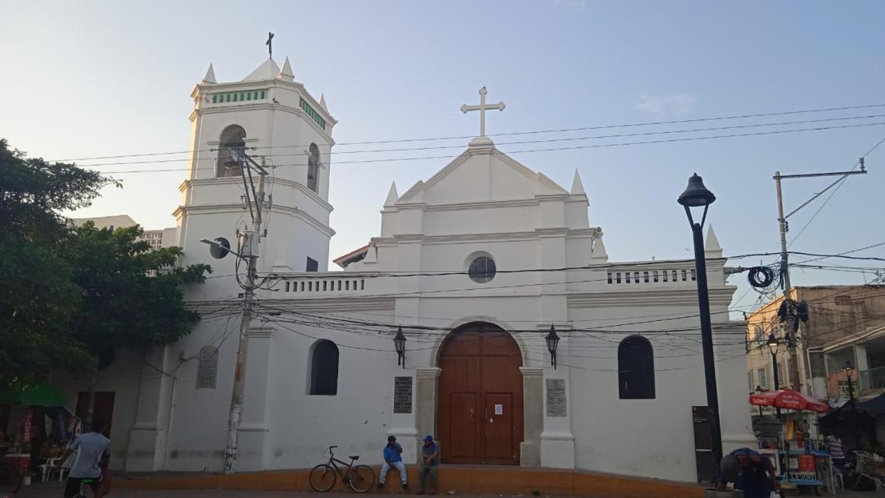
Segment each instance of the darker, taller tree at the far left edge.
[[112,178],[27,158],[0,139],[0,386],[34,385],[89,360],[71,336],[81,289],[61,253],[62,210],[89,206]]

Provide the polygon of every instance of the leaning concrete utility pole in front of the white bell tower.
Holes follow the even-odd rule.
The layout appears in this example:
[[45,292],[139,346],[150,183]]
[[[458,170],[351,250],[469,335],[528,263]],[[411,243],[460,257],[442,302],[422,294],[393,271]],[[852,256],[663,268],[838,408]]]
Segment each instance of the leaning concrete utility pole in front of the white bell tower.
[[245,152],[230,148],[233,159],[239,163],[242,169],[243,183],[246,182],[246,175],[249,175],[251,183],[251,168],[254,166],[258,171],[258,191],[252,191],[255,198],[250,199],[250,187],[247,186],[246,202],[255,203],[255,209],[252,212],[252,226],[250,230],[242,230],[240,232],[240,253],[239,258],[248,260],[249,266],[246,270],[246,282],[243,285],[242,292],[242,312],[240,315],[240,338],[236,346],[236,363],[234,367],[234,389],[230,398],[230,415],[227,419],[227,447],[225,448],[224,472],[230,474],[234,472],[234,462],[236,460],[237,440],[240,431],[240,422],[242,420],[242,398],[246,390],[246,359],[249,351],[249,325],[252,318],[252,301],[255,299],[256,279],[258,273],[258,243],[261,241],[261,222],[262,222],[262,204],[265,198],[265,160],[262,158],[261,166],[255,163]]

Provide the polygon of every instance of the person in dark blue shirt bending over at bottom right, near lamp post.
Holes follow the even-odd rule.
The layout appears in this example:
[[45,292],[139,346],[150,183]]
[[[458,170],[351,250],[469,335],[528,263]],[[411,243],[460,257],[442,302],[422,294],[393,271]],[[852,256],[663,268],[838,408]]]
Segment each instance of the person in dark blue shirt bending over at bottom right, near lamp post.
[[772,490],[781,487],[771,459],[749,447],[735,449],[722,458],[717,489],[725,491],[729,482],[743,491],[744,498],[769,498]]

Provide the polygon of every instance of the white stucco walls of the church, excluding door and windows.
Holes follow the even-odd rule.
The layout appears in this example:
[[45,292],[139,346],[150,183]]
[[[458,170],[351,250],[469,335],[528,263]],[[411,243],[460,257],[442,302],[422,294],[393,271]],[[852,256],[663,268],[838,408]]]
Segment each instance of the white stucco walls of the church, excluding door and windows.
[[[261,240],[259,261],[259,272],[300,272],[310,256],[323,270],[328,239],[334,234],[328,227],[332,206],[325,201],[331,180],[327,159],[331,136],[306,121],[300,110],[289,108],[296,97],[305,95],[303,87],[268,85],[280,101],[275,108],[265,103],[242,109],[207,105],[199,100],[200,92],[227,87],[199,86],[194,146],[210,148],[220,130],[231,123],[247,129],[249,146],[324,141],[321,151],[327,168],[320,175],[319,195],[304,190],[306,168],[280,165],[274,175],[272,230]],[[214,154],[195,156],[194,165],[213,171]],[[298,161],[306,163],[306,155],[290,162]],[[239,204],[242,192],[235,180],[214,179],[204,171],[192,170],[189,181],[182,184],[184,196],[177,211],[183,262],[205,262],[215,268],[216,277],[189,288],[193,306],[218,300],[234,303],[242,292],[226,276],[233,273],[233,257],[212,260],[207,246],[199,242],[219,236],[235,241],[235,230],[248,218]],[[330,445],[338,446],[336,455],[358,454],[361,463],[378,464],[391,433],[404,443],[406,461],[412,461],[419,423],[414,409],[412,414],[391,413],[394,377],[417,378],[432,370],[447,331],[462,323],[486,321],[512,332],[523,354],[523,367],[541,369],[545,378],[566,380],[567,415],[543,416],[537,441],[543,466],[696,480],[691,407],[704,406],[706,400],[696,283],[689,277],[693,265],[685,261],[609,264],[603,232],[590,226],[588,206],[577,175],[566,190],[496,151],[488,139],[476,140],[437,175],[389,198],[382,211],[380,237],[373,238],[365,260],[345,272],[283,276],[273,292],[258,292],[236,470],[311,467]],[[487,284],[477,284],[464,274],[378,275],[462,272],[478,255],[491,257],[499,270]],[[725,283],[718,243],[708,247],[707,256],[717,321],[727,316],[734,287]],[[580,268],[507,273],[564,267]],[[676,281],[645,281],[645,271],[653,275],[673,269],[680,276]],[[620,274],[619,283],[614,276]],[[652,317],[681,318],[650,322]],[[543,343],[551,323],[562,337],[556,370],[550,367]],[[173,370],[174,378],[142,378],[138,424],[132,432],[137,441],[129,448],[130,456],[142,456],[130,467],[222,469],[237,325],[235,315],[204,320],[188,338],[157,353],[155,361]],[[403,325],[408,336],[405,369],[396,365],[391,340],[396,325]],[[440,330],[410,328],[415,325]],[[684,333],[648,333],[672,329]],[[628,333],[643,332],[654,346],[656,397],[620,400],[618,343]],[[310,354],[319,338],[339,346],[335,396],[309,394]],[[727,448],[750,441],[743,336],[739,333],[736,338],[740,340],[724,331],[716,338],[720,418]],[[219,345],[218,377],[214,389],[196,389],[198,365],[191,358],[206,344]],[[419,395],[413,393],[413,399]],[[135,462],[133,457],[129,460]]]

